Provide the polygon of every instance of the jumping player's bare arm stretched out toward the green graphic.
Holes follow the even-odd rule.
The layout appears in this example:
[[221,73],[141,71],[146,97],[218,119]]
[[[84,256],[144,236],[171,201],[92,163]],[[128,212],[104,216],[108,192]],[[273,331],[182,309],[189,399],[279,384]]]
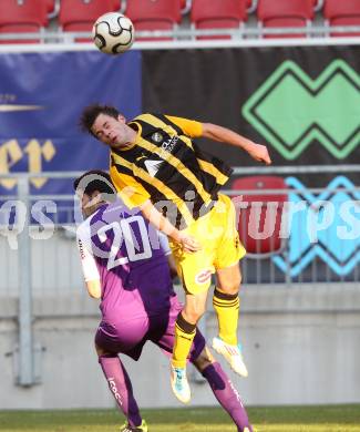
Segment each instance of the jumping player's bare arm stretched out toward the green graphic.
[[227,143],[245,150],[255,161],[263,162],[266,165],[271,164],[269,152],[263,144],[256,144],[245,136],[213,123],[203,123],[203,134],[205,138]]

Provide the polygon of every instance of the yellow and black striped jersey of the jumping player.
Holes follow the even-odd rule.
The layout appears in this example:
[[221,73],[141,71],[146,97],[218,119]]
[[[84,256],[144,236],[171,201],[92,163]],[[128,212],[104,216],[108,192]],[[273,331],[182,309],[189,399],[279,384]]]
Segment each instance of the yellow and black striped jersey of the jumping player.
[[209,212],[232,169],[193,142],[202,136],[202,123],[147,113],[127,125],[136,140],[126,150],[112,150],[110,168],[125,204],[151,199],[177,228]]

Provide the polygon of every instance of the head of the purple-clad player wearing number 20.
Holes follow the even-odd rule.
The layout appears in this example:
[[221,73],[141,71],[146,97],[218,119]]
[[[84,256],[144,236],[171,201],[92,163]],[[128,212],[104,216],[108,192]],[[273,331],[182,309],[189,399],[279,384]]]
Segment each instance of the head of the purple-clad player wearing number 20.
[[85,217],[92,215],[101,204],[116,198],[110,175],[101,169],[88,171],[74,181],[73,186]]

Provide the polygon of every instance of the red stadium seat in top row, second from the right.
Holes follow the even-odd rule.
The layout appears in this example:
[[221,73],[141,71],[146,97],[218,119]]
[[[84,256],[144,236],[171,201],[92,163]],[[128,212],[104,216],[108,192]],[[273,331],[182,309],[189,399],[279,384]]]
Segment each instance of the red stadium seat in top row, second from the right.
[[[259,0],[257,17],[263,28],[306,28],[313,19],[313,0]],[[267,34],[266,38],[304,38],[306,33]]]

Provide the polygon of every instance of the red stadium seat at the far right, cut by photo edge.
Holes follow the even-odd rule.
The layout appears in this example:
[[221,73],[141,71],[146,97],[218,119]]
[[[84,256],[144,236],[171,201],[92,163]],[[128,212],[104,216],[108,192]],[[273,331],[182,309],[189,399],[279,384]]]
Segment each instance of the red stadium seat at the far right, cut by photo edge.
[[[360,1],[359,0],[326,0],[323,16],[330,27],[360,25]],[[331,37],[354,37],[360,32],[330,33]]]

